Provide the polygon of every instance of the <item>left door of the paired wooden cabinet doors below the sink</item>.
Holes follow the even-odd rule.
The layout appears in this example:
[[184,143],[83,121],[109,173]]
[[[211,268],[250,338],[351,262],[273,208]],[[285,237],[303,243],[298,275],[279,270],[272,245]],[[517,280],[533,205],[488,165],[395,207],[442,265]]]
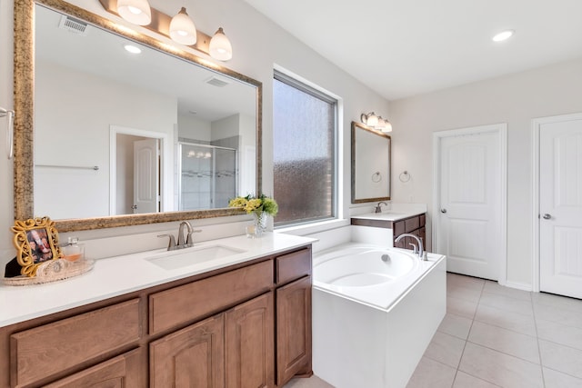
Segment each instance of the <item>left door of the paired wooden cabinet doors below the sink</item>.
[[150,343],[149,356],[152,387],[224,387],[223,314]]

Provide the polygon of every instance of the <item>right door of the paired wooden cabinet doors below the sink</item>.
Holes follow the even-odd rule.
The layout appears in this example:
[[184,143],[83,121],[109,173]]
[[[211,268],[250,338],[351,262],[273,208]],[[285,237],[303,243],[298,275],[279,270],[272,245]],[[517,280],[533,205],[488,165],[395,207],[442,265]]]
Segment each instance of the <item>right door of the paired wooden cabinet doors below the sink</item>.
[[226,387],[275,386],[273,293],[225,313]]

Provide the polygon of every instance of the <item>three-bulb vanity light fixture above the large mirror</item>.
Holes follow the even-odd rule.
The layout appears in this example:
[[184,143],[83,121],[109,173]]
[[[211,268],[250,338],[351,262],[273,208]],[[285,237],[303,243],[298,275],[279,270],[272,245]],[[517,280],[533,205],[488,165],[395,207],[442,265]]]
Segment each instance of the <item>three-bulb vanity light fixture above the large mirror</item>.
[[223,28],[218,28],[212,37],[197,31],[194,21],[186,14],[186,7],[171,17],[150,7],[147,0],[99,0],[99,3],[110,14],[121,16],[135,25],[143,25],[156,34],[191,46],[219,61],[228,61],[233,57],[233,47]]

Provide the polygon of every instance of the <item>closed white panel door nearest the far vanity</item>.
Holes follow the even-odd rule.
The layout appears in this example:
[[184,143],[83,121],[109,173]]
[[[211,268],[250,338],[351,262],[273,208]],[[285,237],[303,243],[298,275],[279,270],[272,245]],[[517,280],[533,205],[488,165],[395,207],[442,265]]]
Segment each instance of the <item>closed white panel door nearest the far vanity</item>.
[[506,245],[505,124],[447,134],[436,138],[435,252],[447,255],[449,272],[499,280]]

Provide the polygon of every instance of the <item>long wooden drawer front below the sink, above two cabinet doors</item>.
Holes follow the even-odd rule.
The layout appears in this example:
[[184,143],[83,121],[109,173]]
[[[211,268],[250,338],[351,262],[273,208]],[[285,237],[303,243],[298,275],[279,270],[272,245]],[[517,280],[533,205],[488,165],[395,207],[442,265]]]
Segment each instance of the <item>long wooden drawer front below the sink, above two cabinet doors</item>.
[[244,302],[273,285],[273,260],[149,296],[149,332],[163,332]]

